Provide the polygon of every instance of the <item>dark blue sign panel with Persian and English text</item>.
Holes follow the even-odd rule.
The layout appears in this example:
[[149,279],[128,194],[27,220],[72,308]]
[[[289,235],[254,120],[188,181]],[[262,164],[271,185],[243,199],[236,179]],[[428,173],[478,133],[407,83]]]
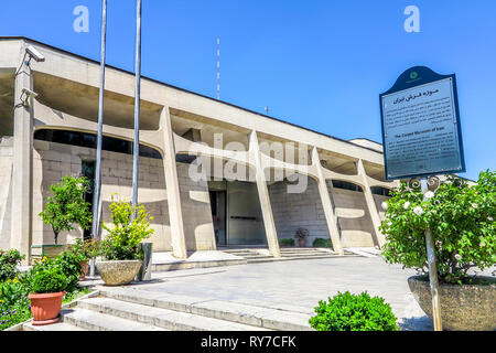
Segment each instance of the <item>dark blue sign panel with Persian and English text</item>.
[[379,97],[387,180],[465,172],[454,74],[411,67]]

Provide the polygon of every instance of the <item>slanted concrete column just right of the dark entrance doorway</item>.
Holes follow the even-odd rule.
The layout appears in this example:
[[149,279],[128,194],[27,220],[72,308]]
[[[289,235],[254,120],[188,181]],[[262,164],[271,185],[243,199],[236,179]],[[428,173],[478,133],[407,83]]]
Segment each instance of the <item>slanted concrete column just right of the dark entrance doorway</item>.
[[270,204],[269,190],[267,189],[266,174],[260,159],[260,148],[258,145],[257,131],[250,133],[250,160],[252,161],[256,172],[258,197],[260,200],[260,207],[263,216],[263,225],[266,227],[267,244],[269,252],[273,257],[281,257],[279,249],[278,233],[276,231],[276,223],[273,222],[272,206]]

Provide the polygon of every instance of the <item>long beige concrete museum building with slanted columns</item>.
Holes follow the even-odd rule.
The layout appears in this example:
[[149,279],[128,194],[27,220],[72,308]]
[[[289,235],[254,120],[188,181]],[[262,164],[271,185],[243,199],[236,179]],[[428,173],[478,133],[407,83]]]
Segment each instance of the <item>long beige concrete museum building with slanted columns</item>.
[[[29,60],[30,45],[45,61]],[[39,216],[50,185],[66,174],[95,178],[99,75],[93,60],[0,38],[0,248],[29,256],[33,245],[53,244]],[[384,179],[379,143],[342,140],[145,77],[140,109],[139,203],[153,216],[154,252],[186,258],[257,245],[279,257],[278,239],[300,227],[308,246],[330,238],[337,254],[382,245],[380,204],[396,183]],[[112,194],[131,200],[133,113],[133,74],[108,66],[103,222]],[[80,236],[61,234],[58,243]]]

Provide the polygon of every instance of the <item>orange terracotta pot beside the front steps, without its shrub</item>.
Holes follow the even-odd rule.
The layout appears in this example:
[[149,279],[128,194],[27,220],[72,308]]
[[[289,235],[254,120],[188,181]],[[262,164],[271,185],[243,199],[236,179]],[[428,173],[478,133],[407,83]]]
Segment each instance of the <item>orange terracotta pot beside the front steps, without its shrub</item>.
[[30,293],[31,313],[33,314],[33,324],[51,324],[58,322],[62,307],[62,299],[65,291],[55,293]]

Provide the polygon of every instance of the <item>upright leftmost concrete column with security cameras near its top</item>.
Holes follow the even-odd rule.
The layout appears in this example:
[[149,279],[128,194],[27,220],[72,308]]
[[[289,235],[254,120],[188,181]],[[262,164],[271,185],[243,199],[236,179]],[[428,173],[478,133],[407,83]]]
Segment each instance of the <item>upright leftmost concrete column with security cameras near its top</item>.
[[[22,88],[33,89],[31,69],[22,63],[15,76],[13,113],[13,164],[12,164],[12,227],[10,246],[25,255],[23,265],[30,261],[33,210],[33,105],[21,99]],[[22,98],[26,98],[23,95]]]

